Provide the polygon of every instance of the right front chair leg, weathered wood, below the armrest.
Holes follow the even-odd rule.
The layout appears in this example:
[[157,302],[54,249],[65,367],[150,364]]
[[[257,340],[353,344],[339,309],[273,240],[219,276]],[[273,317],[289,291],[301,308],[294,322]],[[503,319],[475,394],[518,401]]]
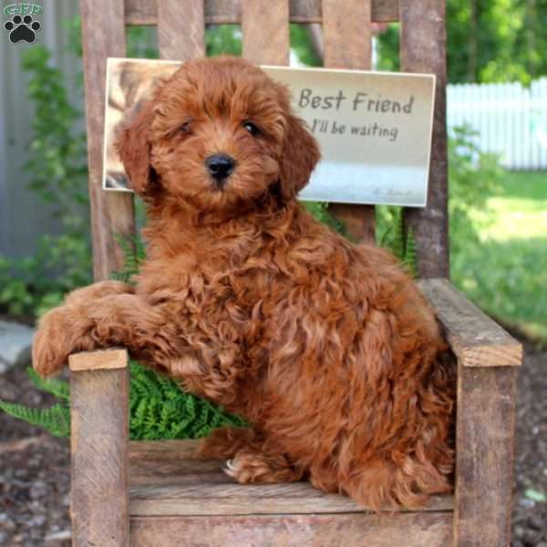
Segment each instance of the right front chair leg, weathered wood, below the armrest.
[[516,369],[458,366],[454,547],[511,542]]

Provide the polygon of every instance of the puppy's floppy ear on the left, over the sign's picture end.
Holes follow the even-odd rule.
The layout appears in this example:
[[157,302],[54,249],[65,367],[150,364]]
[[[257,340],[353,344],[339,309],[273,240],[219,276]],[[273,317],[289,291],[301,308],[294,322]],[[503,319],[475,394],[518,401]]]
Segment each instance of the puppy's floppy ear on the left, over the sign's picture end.
[[150,165],[148,132],[153,118],[152,101],[138,104],[129,119],[117,129],[116,148],[131,182],[139,195],[148,193],[157,181],[157,173]]

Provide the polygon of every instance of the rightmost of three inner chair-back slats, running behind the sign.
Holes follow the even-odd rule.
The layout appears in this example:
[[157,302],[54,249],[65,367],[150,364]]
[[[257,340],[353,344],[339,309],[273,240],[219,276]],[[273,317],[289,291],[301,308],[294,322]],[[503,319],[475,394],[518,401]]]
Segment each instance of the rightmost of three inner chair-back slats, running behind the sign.
[[[372,26],[370,0],[323,0],[325,67],[370,70]],[[331,203],[329,209],[346,224],[356,242],[375,242],[375,208]]]

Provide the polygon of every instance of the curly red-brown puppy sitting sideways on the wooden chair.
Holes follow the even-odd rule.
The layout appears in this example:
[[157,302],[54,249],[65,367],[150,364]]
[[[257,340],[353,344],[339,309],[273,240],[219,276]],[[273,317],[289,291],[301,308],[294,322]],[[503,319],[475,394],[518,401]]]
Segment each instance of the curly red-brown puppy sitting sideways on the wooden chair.
[[46,314],[34,366],[126,346],[243,415],[201,453],[235,480],[306,478],[378,509],[450,490],[452,377],[436,319],[396,259],[296,201],[319,160],[287,89],[243,59],[186,63],[119,138],[148,207],[134,288]]

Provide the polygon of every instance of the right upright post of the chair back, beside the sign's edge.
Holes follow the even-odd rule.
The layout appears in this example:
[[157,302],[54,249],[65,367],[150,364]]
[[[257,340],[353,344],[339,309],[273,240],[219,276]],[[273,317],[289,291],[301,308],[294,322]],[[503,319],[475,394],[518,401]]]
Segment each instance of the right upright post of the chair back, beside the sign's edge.
[[401,70],[437,75],[428,206],[405,209],[405,226],[416,239],[419,277],[449,277],[445,1],[400,0],[399,10]]

